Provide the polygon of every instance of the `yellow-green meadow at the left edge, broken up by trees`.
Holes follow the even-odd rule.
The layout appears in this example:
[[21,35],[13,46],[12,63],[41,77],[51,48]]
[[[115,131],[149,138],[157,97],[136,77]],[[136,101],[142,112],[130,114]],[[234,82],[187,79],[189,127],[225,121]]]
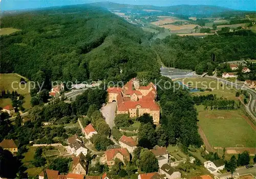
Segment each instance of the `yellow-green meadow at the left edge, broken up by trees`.
[[[31,96],[29,93],[29,86],[27,84],[19,84],[20,81],[20,76],[17,74],[11,73],[11,74],[0,74],[0,91],[5,90],[5,91],[17,91],[18,94],[24,96],[24,103],[23,107],[25,109],[29,109],[31,107],[30,105],[30,100]],[[26,79],[26,78],[25,78]],[[28,81],[28,79],[26,79]],[[12,82],[17,81],[16,83],[13,83],[13,88],[12,88]],[[15,89],[17,88],[17,89]],[[8,101],[8,99],[0,99],[0,104],[1,107],[4,107],[2,105],[7,105],[8,102],[11,102],[11,100]],[[11,103],[9,103],[11,104]]]

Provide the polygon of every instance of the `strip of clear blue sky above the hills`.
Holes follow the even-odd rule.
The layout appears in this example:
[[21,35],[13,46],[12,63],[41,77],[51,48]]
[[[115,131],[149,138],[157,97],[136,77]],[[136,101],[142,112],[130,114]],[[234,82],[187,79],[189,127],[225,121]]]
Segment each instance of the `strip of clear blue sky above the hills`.
[[0,3],[0,10],[5,11],[44,8],[51,6],[76,5],[103,1],[120,4],[154,6],[213,5],[237,10],[256,11],[256,0],[2,0]]

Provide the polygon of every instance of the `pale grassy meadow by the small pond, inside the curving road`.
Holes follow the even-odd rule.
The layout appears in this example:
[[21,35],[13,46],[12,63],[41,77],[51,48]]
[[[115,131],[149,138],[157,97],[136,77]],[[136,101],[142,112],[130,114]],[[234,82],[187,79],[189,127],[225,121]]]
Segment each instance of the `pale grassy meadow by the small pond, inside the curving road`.
[[193,92],[192,94],[195,96],[202,95],[216,95],[217,98],[226,98],[232,100],[238,100],[236,97],[237,89],[226,84],[223,84],[220,81],[208,78],[184,78],[179,79],[183,81],[183,84],[193,87],[193,88],[211,88],[212,91],[204,91],[204,92]]

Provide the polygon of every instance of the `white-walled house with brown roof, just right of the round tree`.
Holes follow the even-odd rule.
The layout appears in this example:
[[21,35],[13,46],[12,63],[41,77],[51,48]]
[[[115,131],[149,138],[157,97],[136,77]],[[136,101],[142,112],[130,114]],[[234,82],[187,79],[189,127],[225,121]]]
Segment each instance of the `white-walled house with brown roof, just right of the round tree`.
[[156,145],[150,151],[152,151],[156,156],[159,168],[161,168],[163,164],[168,163],[169,152],[167,151],[166,147],[159,147]]

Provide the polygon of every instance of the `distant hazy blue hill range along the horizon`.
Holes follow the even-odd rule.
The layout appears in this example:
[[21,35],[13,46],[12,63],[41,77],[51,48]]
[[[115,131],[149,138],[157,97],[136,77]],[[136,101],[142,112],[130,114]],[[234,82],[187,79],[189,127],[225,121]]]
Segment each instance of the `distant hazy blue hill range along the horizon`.
[[117,4],[111,2],[100,2],[92,3],[92,6],[103,7],[109,10],[156,10],[166,13],[182,14],[182,15],[211,15],[216,13],[223,13],[227,11],[234,11],[229,8],[219,7],[219,6],[206,6],[206,5],[177,5],[177,6],[166,6],[157,7],[151,5],[127,5],[127,4]]

